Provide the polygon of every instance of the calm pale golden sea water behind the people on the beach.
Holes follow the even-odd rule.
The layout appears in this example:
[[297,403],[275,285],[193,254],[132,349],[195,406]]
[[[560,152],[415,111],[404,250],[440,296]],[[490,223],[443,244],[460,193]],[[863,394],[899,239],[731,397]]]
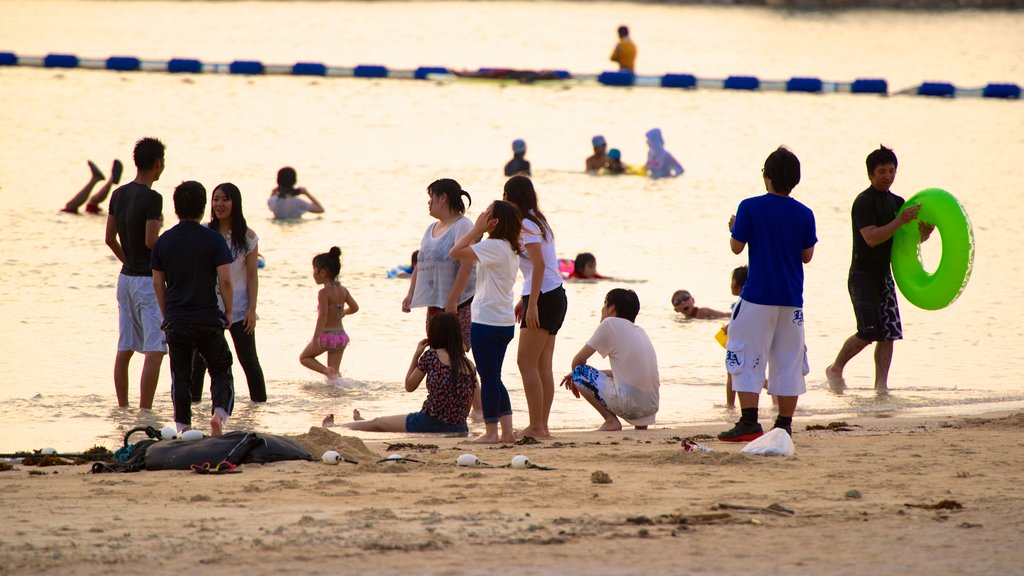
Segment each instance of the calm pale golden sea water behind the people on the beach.
[[[0,49],[20,54],[198,57],[206,61],[383,64],[392,68],[561,68],[599,72],[628,24],[641,72],[766,79],[882,77],[891,89],[925,80],[959,86],[1024,83],[1024,14],[999,12],[780,12],[754,8],[624,3],[48,2],[0,0]],[[948,41],[956,38],[956,42]],[[590,137],[604,134],[627,162],[641,162],[643,133],[660,127],[686,167],[670,181],[582,173]],[[183,179],[209,189],[240,186],[267,258],[257,326],[270,402],[251,405],[238,370],[232,428],[304,431],[334,412],[367,415],[418,408],[401,384],[423,330],[422,311],[400,312],[408,284],[385,271],[404,263],[430,223],[424,189],[455,177],[471,191],[475,216],[500,197],[509,142],[529,145],[542,207],[558,251],[597,254],[602,274],[636,280],[638,323],[657,348],[662,425],[716,423],[722,408],[717,322],[686,322],[669,297],[694,292],[728,308],[729,273],[743,256],[728,248],[726,222],[760,194],[759,169],[776,146],[803,162],[795,196],[817,216],[819,244],[805,287],[811,374],[798,418],[853,414],[974,413],[1024,405],[1021,258],[1024,105],[909,96],[797,95],[596,86],[436,84],[397,80],[169,76],[0,69],[0,451],[95,443],[116,447],[138,424],[172,419],[165,361],[153,412],[116,407],[118,263],[102,242],[104,218],[57,210],[88,177],[131,163],[142,135],[167,145],[165,195]],[[871,390],[869,355],[854,360],[842,397],[823,369],[854,320],[846,293],[849,209],[867,186],[863,158],[885,142],[900,157],[894,191],[941,187],[967,206],[977,258],[952,306],[925,312],[902,302],[906,340],[896,346],[893,393]],[[265,206],[281,166],[327,206],[298,224],[270,221]],[[128,171],[130,178],[131,171]],[[926,247],[930,265],[938,243]],[[361,310],[346,319],[350,384],[325,384],[301,367],[312,333],[316,286],[309,260],[344,250],[342,282]],[[568,286],[556,372],[593,331],[616,283]],[[525,402],[506,361],[519,422]],[[132,366],[137,403],[140,358]],[[564,390],[562,390],[564,392]],[[209,407],[204,405],[204,409]],[[567,394],[552,425],[579,429],[596,415]]]

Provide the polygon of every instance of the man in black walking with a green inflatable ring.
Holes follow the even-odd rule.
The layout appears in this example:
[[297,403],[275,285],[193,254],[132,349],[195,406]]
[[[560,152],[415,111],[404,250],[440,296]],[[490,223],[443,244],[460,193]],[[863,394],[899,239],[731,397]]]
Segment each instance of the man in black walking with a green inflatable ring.
[[[857,318],[857,332],[843,342],[836,361],[825,368],[828,387],[836,393],[846,388],[843,369],[853,357],[874,342],[874,389],[889,389],[889,367],[893,359],[893,342],[903,338],[896,285],[892,277],[893,235],[903,224],[918,217],[920,205],[902,212],[903,199],[890,188],[896,179],[896,153],[880,147],[867,155],[867,179],[871,186],[853,201],[853,259],[847,288]],[[921,221],[921,241],[935,227]]]

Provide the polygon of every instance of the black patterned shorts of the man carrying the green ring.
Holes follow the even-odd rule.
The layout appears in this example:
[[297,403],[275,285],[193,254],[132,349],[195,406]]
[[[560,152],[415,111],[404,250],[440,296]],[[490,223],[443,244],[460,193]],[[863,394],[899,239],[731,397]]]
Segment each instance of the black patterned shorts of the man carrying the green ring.
[[889,271],[851,269],[847,286],[857,317],[858,338],[880,342],[903,337],[896,285]]

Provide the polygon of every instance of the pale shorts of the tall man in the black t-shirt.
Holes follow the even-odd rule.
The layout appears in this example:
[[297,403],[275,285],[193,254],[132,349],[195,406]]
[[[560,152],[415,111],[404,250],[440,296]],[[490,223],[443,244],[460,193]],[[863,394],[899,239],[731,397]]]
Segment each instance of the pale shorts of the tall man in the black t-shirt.
[[118,276],[118,352],[167,354],[157,293],[150,276]]

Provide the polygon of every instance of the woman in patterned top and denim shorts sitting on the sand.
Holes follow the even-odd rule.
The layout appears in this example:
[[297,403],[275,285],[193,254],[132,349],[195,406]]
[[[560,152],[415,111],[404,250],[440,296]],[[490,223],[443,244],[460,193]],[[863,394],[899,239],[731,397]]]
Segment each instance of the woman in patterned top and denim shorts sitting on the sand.
[[[476,389],[476,367],[466,358],[462,328],[455,315],[440,313],[430,320],[427,338],[416,345],[416,354],[406,374],[406,390],[418,388],[424,376],[427,378],[427,400],[419,412],[366,420],[358,410],[353,410],[355,421],[342,425],[367,431],[467,436],[466,418]],[[334,425],[334,414],[324,419],[325,427]]]

